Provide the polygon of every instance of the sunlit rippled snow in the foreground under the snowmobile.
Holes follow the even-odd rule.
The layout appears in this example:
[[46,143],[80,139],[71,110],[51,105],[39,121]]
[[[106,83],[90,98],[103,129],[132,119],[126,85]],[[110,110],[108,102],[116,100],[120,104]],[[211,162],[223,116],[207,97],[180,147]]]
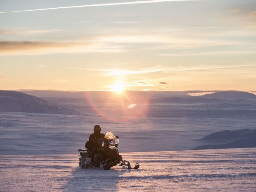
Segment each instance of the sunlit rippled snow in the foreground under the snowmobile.
[[256,148],[122,153],[138,170],[80,169],[77,154],[0,155],[1,192],[255,192]]

